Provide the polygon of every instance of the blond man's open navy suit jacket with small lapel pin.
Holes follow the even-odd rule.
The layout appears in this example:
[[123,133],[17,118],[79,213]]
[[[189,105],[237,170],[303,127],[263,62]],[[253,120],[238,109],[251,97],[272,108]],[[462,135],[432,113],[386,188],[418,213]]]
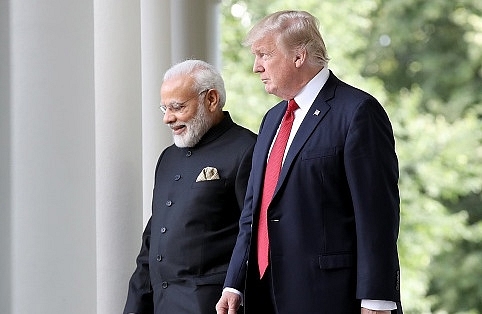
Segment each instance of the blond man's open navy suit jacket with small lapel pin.
[[[256,232],[266,160],[286,101],[263,119],[225,286],[256,313]],[[398,161],[379,102],[330,73],[287,153],[268,209],[279,314],[360,313],[400,300]],[[247,267],[249,265],[249,267]],[[246,290],[245,290],[246,287]]]

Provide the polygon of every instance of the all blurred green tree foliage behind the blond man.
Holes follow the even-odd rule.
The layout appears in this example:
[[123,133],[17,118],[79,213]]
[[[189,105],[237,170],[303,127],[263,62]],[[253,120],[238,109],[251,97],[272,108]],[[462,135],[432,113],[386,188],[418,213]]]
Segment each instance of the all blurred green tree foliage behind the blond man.
[[255,132],[279,99],[241,43],[282,9],[315,15],[329,68],[391,118],[405,313],[482,313],[482,1],[223,0],[226,109]]

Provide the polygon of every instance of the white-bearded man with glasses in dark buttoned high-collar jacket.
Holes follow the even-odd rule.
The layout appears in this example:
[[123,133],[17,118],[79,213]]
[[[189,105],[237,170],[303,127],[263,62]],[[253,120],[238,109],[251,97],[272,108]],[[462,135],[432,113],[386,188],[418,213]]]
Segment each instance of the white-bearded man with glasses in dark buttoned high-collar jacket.
[[238,234],[256,135],[223,111],[224,82],[187,60],[161,87],[174,143],[156,167],[152,216],[124,313],[213,313]]

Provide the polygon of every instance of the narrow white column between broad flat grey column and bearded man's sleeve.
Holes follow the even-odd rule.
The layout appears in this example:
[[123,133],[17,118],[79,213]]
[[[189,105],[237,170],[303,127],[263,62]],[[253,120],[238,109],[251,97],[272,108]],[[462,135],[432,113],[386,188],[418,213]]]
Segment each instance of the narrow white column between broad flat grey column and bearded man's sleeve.
[[94,0],[97,313],[121,313],[142,228],[139,1]]

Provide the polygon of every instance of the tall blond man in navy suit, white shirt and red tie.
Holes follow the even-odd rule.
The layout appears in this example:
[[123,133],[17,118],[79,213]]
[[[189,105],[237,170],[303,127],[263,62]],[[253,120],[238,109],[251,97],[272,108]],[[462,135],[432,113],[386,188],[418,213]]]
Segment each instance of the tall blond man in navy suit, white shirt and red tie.
[[217,313],[236,313],[243,296],[245,313],[401,313],[398,161],[384,109],[328,70],[307,12],[265,17],[246,45],[266,91],[284,100],[261,124]]

